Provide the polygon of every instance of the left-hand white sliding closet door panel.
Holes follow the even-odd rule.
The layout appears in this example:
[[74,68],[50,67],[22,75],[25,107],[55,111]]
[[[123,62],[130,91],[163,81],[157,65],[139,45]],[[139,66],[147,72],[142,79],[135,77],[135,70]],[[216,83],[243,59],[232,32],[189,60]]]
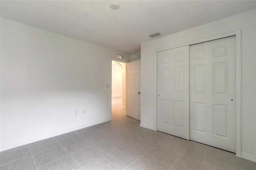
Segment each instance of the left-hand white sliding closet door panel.
[[189,46],[157,53],[157,130],[189,139]]

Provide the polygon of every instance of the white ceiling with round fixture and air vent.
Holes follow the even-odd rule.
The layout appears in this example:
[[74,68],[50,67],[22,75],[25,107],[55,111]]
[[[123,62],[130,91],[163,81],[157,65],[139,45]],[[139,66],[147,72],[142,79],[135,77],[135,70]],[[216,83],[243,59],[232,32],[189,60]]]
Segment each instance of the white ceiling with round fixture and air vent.
[[[120,8],[109,5],[117,2]],[[140,43],[256,8],[256,1],[10,1],[1,17],[125,53]],[[159,32],[161,36],[150,38]]]

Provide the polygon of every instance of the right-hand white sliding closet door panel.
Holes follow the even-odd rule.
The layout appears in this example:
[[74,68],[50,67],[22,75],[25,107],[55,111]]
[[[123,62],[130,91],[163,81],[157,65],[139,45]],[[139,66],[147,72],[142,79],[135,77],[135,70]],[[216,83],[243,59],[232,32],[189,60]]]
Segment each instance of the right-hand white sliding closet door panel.
[[231,152],[235,143],[235,37],[190,46],[190,139]]

